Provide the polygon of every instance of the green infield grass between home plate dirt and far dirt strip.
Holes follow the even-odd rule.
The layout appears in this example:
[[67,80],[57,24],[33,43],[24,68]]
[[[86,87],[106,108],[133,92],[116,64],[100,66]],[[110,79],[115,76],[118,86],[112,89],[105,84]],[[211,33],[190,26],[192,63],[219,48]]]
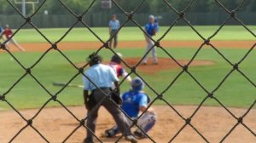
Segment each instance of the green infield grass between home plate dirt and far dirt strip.
[[[191,59],[196,49],[166,50],[177,59]],[[91,52],[91,50],[64,51],[74,63],[83,62],[85,57]],[[119,49],[119,52],[124,54],[125,57],[140,57],[143,55],[144,50]],[[221,49],[221,52],[229,57],[231,62],[235,63],[246,54],[247,49]],[[103,55],[104,60],[109,60],[112,55],[107,49],[102,49],[100,54]],[[160,50],[158,54],[160,57],[167,57],[166,54]],[[42,53],[32,52],[15,53],[15,56],[26,68],[32,66],[41,55]],[[241,71],[246,73],[247,77],[250,77],[254,83],[256,83],[255,55],[256,52],[254,50],[240,66]],[[203,48],[195,60],[212,60],[215,62],[213,66],[196,66],[189,68],[189,72],[191,72],[208,91],[215,89],[218,83],[223,80],[225,75],[230,72],[232,68],[212,49]],[[10,60],[9,54],[6,53],[1,54],[0,64],[0,94],[3,94],[8,91],[9,87],[13,85],[20,76],[25,74],[25,71],[20,68],[15,60]],[[180,68],[158,72],[154,75],[148,75],[143,72],[138,73],[142,75],[150,86],[154,87],[156,92],[161,93],[179,72],[181,72]],[[70,80],[75,73],[77,73],[77,71],[73,66],[68,64],[67,60],[61,57],[61,54],[56,51],[51,51],[49,54],[46,54],[45,58],[39,62],[38,66],[32,68],[32,75],[37,77],[51,94],[56,94],[61,89],[60,87],[53,86],[52,82],[59,81],[65,83]],[[132,75],[132,77],[135,76]],[[82,84],[81,76],[74,78],[72,83]],[[129,89],[128,83],[124,83],[121,89],[123,92]],[[156,96],[148,87],[146,87],[145,91],[152,98]],[[225,106],[248,107],[252,105],[255,100],[255,91],[256,89],[251,83],[248,83],[238,72],[234,72],[214,95]],[[164,98],[172,105],[199,105],[206,96],[207,93],[201,89],[187,73],[183,73],[183,75],[177,79],[177,82],[172,85],[171,89],[167,90],[164,94]],[[6,95],[6,100],[18,109],[43,106],[49,98],[49,94],[29,75],[21,79],[20,83],[15,85],[14,89],[11,89],[9,94]],[[83,105],[82,89],[64,89],[58,94],[58,100],[61,100],[66,106]],[[155,104],[163,104],[163,102],[158,100]],[[207,100],[204,105],[219,106],[215,100],[211,99]],[[51,101],[48,106],[60,105]],[[10,107],[7,103],[0,101],[0,108],[9,109]]]

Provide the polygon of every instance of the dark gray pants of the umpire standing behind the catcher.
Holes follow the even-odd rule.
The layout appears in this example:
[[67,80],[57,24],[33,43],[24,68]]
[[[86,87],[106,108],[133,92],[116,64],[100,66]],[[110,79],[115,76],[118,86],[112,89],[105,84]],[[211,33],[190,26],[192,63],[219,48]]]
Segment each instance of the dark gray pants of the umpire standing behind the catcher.
[[[102,89],[102,91],[106,94],[110,93],[110,89]],[[102,93],[100,89],[96,89],[93,93],[93,96],[96,100],[96,102],[100,102],[106,95]],[[127,119],[123,112],[119,110],[119,108],[113,103],[112,100],[109,100],[108,98],[105,98],[105,100],[102,102],[102,106],[104,106],[108,112],[113,116],[113,119],[115,123],[119,126],[119,129],[122,134],[129,135],[131,134],[131,130],[129,128],[129,124],[127,122]],[[90,111],[88,111],[87,115],[90,114],[87,118],[86,125],[87,127],[95,133],[96,130],[96,118],[98,117],[98,110],[99,107],[96,109],[92,109],[92,114],[90,114]],[[87,129],[87,138],[92,138],[93,134],[90,132],[90,130]],[[127,129],[127,130],[126,130]]]

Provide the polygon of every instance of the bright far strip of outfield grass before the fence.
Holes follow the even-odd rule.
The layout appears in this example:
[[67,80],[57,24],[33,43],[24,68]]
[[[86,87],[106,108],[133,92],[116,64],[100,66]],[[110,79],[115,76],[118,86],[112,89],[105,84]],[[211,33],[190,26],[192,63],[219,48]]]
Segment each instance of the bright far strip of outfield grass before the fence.
[[[219,26],[195,26],[195,29],[201,33],[203,37],[210,37],[217,31]],[[256,26],[248,26],[253,32],[256,31]],[[168,27],[160,26],[160,32],[155,38],[160,38]],[[41,29],[42,33],[49,38],[49,41],[55,42],[59,40],[67,28],[58,29]],[[103,40],[108,40],[108,28],[92,28],[97,36]],[[242,35],[242,36],[241,36]],[[15,36],[16,40],[20,43],[44,43],[46,42],[44,37],[41,37],[36,30],[24,29],[20,30]],[[64,42],[85,42],[85,41],[97,41],[90,31],[86,28],[75,28],[63,39]],[[120,41],[143,41],[143,32],[137,27],[124,27],[119,32]],[[195,34],[195,31],[189,26],[174,26],[172,30],[166,35],[163,40],[201,40],[201,37]],[[252,34],[250,34],[242,26],[224,26],[212,40],[255,40]]]

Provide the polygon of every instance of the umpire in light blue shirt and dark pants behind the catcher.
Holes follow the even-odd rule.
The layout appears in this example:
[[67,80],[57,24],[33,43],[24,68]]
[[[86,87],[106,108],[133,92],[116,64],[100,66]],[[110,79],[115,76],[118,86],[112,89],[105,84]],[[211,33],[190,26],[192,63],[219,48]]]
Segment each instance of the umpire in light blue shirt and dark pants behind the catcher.
[[[125,136],[125,140],[129,140],[132,143],[136,143],[136,138],[131,134],[131,130],[129,128],[129,124],[126,120],[126,117],[123,112],[121,112],[113,103],[113,100],[106,98],[105,96],[111,94],[112,85],[115,84],[117,87],[117,93],[119,93],[119,78],[116,76],[115,72],[110,66],[102,65],[102,57],[98,54],[90,54],[89,55],[89,64],[90,68],[84,72],[84,75],[90,78],[90,81],[83,76],[84,81],[84,104],[87,112],[87,121],[86,126],[87,129],[87,137],[84,139],[84,143],[93,143],[93,134],[96,130],[96,118],[98,117],[99,107],[96,107],[96,104],[101,102],[101,106],[104,106],[108,112],[113,116],[114,121],[118,124],[120,131]],[[94,85],[94,84],[96,85]],[[97,88],[99,89],[97,89]],[[90,95],[89,95],[90,91]],[[94,111],[92,111],[96,108]],[[91,131],[93,133],[91,133]]]

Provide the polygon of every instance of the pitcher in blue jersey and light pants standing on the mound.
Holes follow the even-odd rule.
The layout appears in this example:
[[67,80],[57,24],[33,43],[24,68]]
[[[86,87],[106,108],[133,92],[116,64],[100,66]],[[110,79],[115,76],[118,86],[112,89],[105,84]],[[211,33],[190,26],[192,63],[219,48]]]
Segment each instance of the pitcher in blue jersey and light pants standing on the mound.
[[[149,16],[149,22],[145,26],[145,31],[148,34],[148,35],[145,34],[145,40],[147,43],[147,47],[146,47],[146,53],[147,53],[148,50],[150,50],[154,45],[154,42],[149,37],[153,37],[156,34],[156,32],[159,31],[158,25],[154,23],[154,15]],[[156,48],[154,47],[153,49],[151,49],[151,52],[153,57],[153,64],[157,65],[158,60],[157,60]],[[143,65],[146,65],[147,61],[148,61],[148,54],[146,54],[145,58],[143,59]]]

